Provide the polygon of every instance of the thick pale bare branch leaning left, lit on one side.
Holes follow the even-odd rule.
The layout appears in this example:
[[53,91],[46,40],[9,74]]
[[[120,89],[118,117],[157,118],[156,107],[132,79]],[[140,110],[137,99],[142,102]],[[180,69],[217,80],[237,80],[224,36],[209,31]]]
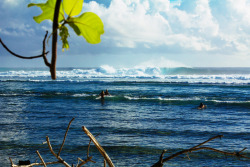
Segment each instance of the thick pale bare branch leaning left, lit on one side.
[[99,150],[99,152],[102,154],[104,159],[107,161],[108,165],[110,167],[114,167],[113,162],[109,158],[108,154],[105,152],[105,150],[102,148],[102,146],[99,144],[99,142],[96,140],[96,138],[90,133],[90,131],[85,127],[82,126],[83,131],[89,136],[89,138],[93,141],[95,144],[96,148]]

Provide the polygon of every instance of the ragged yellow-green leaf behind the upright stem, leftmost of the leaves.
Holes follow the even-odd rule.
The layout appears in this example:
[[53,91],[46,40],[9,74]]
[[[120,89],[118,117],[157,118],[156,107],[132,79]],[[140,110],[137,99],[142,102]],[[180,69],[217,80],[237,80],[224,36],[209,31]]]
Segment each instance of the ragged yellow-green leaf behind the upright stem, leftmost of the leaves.
[[[38,3],[38,4],[30,3],[28,7],[37,6],[41,8],[43,13],[39,16],[33,17],[37,23],[41,23],[44,20],[51,20],[53,22],[55,5],[56,5],[56,0],[48,0],[46,3]],[[63,18],[64,18],[64,12],[61,5],[58,22],[61,22]]]

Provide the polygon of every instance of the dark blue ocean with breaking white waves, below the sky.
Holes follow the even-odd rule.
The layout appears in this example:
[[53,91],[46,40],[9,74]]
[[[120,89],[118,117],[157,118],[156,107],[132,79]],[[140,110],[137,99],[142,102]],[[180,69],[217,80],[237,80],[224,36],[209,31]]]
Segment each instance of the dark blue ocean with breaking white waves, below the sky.
[[[99,99],[108,89],[111,96]],[[206,109],[198,110],[200,103]],[[250,68],[58,68],[57,80],[46,68],[0,68],[0,164],[19,160],[56,161],[68,123],[61,157],[69,164],[86,159],[87,127],[118,167],[151,166],[164,157],[205,146],[250,156]],[[103,166],[93,144],[90,156]],[[181,155],[165,166],[250,166],[250,161],[209,150]],[[62,166],[62,165],[51,165]]]

